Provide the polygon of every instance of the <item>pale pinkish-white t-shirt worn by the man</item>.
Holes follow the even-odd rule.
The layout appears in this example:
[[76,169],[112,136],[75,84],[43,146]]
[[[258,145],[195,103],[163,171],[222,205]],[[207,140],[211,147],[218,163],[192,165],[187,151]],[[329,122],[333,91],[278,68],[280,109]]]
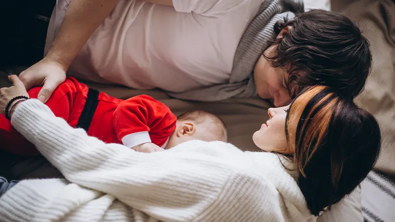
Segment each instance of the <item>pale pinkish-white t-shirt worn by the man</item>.
[[[70,0],[59,0],[52,43]],[[173,0],[174,7],[120,0],[68,74],[137,89],[185,92],[226,83],[245,29],[263,0]]]

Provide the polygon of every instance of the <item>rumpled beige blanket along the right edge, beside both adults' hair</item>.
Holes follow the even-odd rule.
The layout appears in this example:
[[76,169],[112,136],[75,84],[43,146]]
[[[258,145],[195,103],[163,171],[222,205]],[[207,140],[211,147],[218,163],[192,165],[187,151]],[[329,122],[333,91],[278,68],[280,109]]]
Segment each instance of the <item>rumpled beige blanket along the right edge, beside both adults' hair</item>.
[[382,147],[375,169],[395,174],[395,2],[358,0],[342,11],[370,41],[373,66],[355,101],[377,119]]

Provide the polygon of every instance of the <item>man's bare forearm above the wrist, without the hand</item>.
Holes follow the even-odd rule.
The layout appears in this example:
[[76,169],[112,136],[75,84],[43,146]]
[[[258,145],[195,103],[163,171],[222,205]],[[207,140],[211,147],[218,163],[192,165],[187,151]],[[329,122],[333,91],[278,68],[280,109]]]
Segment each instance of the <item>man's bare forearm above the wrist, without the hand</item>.
[[45,58],[61,64],[67,70],[86,40],[103,23],[117,2],[118,0],[71,1],[59,34]]

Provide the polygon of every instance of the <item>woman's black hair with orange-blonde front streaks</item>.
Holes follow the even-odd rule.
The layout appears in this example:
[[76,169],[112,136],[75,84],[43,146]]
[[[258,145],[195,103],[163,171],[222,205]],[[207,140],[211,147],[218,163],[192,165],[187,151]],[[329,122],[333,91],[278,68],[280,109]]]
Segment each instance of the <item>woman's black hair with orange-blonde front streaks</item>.
[[328,86],[298,94],[285,128],[298,185],[315,216],[350,194],[378,159],[381,136],[373,115]]

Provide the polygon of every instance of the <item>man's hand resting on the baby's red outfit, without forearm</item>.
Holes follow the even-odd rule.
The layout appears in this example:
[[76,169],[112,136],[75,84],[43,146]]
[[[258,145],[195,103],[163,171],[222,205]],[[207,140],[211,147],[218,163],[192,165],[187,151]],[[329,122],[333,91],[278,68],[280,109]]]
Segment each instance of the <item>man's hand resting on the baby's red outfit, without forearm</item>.
[[42,85],[37,98],[46,102],[56,87],[66,79],[66,71],[61,64],[43,59],[21,72],[19,78],[27,90]]

